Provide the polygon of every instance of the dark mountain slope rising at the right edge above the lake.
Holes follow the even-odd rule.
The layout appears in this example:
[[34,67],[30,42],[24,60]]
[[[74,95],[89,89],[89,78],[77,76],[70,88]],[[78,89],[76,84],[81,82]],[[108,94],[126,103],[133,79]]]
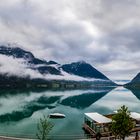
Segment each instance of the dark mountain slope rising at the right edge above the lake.
[[138,73],[129,83],[125,84],[126,88],[140,88],[140,73]]

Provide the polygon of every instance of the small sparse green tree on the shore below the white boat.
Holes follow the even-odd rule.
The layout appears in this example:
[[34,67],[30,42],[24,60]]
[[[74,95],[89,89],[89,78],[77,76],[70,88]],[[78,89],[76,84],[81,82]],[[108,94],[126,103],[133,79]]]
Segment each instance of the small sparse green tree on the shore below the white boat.
[[48,140],[48,134],[52,130],[53,124],[49,121],[48,117],[43,116],[37,124],[37,138],[39,140]]

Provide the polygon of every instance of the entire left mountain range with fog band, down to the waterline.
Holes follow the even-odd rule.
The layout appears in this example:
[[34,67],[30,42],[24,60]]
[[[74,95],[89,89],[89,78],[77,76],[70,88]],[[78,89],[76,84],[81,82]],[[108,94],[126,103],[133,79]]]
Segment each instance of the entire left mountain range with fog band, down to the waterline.
[[95,85],[116,86],[84,61],[60,65],[52,60],[36,58],[31,52],[19,47],[0,46],[0,87],[79,88]]

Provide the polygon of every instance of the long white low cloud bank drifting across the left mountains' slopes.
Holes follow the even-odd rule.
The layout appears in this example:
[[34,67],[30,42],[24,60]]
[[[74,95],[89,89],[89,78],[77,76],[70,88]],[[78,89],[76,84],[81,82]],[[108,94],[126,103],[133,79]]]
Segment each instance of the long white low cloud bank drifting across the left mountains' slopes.
[[[37,65],[40,66],[40,65]],[[53,66],[53,65],[52,65]],[[30,65],[26,60],[21,58],[13,58],[12,56],[0,55],[0,73],[8,76],[42,78],[46,80],[74,80],[74,81],[97,81],[100,79],[88,79],[76,75],[71,75],[61,70],[62,75],[41,74],[34,70],[36,66]],[[57,68],[56,66],[53,66]],[[102,81],[102,80],[101,80]]]

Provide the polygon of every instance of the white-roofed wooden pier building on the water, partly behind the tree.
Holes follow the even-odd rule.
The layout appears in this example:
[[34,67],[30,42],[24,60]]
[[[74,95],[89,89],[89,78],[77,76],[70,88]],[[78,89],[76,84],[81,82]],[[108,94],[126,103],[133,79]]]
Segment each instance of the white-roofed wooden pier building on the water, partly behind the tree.
[[[136,122],[136,126],[132,129],[131,133],[135,133],[135,139],[139,139],[138,132],[140,131],[140,114],[132,112],[131,116]],[[108,139],[114,139],[115,136],[109,131],[108,127],[112,114],[101,115],[97,112],[85,113],[85,123],[83,124],[83,129],[91,135],[91,138],[102,137]],[[106,129],[107,128],[107,129]]]

